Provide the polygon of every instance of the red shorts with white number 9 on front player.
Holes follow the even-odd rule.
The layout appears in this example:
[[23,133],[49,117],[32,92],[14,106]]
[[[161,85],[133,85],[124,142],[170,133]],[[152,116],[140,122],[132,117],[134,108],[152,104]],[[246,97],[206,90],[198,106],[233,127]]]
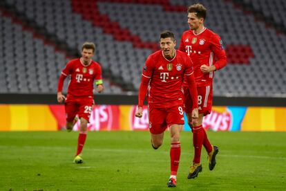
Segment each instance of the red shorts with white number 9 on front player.
[[170,108],[149,107],[149,130],[151,134],[162,134],[167,127],[184,125],[184,107],[177,105]]

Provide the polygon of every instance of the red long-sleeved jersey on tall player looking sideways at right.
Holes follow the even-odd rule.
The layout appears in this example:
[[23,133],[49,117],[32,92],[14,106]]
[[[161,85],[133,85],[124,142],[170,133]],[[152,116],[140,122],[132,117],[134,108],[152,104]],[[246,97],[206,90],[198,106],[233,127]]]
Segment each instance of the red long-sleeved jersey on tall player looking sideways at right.
[[[184,31],[179,50],[186,52],[191,57],[198,87],[211,85],[214,74],[213,72],[202,73],[200,66],[203,64],[207,66],[214,64],[216,70],[219,70],[227,65],[227,56],[222,46],[222,40],[208,28],[204,28],[199,34],[193,33],[193,30]],[[184,86],[186,83],[186,80],[184,80]]]

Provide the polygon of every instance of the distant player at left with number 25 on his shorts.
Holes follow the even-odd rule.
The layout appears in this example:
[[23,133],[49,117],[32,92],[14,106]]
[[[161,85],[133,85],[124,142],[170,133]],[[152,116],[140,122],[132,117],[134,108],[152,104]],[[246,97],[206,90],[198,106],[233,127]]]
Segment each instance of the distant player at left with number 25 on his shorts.
[[[100,65],[92,60],[95,53],[95,44],[85,42],[82,45],[82,57],[70,60],[66,68],[61,72],[57,88],[57,101],[63,102],[66,109],[66,129],[73,130],[73,125],[77,121],[76,115],[80,119],[80,132],[77,140],[77,154],[74,162],[82,163],[82,152],[86,142],[87,124],[90,113],[93,109],[93,84],[97,85],[97,92],[104,90],[102,85],[102,69]],[[68,84],[68,94],[66,97],[61,93],[64,80],[70,76]]]

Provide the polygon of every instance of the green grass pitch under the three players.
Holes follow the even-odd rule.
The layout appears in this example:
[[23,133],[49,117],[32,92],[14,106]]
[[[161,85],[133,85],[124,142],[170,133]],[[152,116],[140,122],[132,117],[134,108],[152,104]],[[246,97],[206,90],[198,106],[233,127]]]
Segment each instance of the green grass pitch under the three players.
[[0,190],[286,190],[285,132],[208,132],[220,152],[209,171],[187,179],[191,132],[182,132],[177,188],[169,179],[169,131],[158,150],[148,131],[88,132],[83,164],[78,132],[0,132]]

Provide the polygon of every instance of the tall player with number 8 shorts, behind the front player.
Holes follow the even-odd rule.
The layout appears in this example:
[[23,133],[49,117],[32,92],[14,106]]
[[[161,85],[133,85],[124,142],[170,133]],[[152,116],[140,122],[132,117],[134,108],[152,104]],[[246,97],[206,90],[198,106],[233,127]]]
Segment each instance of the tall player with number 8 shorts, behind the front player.
[[191,122],[191,109],[193,102],[190,98],[187,82],[184,83],[184,105],[188,122],[193,132],[193,147],[195,155],[191,165],[188,179],[193,179],[202,171],[200,153],[202,145],[207,150],[209,170],[216,165],[218,147],[211,145],[207,134],[202,127],[203,117],[211,113],[213,100],[213,74],[227,65],[227,56],[222,46],[220,37],[213,31],[204,27],[204,19],[207,9],[200,3],[193,4],[188,8],[188,24],[190,30],[184,31],[180,42],[180,51],[184,51],[191,57],[194,66],[194,75],[198,89],[199,117],[196,122]]

